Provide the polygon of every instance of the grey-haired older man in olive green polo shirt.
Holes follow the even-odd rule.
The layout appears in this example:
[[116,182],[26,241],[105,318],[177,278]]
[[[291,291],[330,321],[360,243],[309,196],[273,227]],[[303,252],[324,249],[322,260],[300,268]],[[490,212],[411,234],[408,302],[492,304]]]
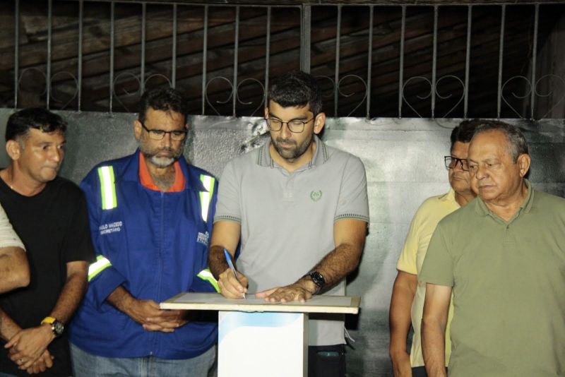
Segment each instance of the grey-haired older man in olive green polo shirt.
[[429,376],[562,376],[565,371],[565,200],[524,178],[528,145],[496,122],[468,153],[477,199],[439,222],[422,266],[422,348]]

